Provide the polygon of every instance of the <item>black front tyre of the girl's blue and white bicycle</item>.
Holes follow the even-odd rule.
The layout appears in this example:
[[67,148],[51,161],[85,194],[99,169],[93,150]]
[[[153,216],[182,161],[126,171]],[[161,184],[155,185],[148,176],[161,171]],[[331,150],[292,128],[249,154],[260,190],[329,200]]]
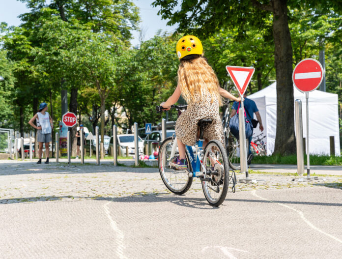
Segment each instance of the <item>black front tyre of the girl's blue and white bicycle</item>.
[[[165,169],[167,169],[167,168],[164,169],[164,166],[162,165],[162,163],[163,163],[163,155],[164,155],[163,152],[164,152],[164,149],[166,150],[166,146],[167,146],[170,142],[172,142],[172,137],[169,137],[169,138],[165,139],[165,140],[162,142],[162,144],[160,145],[159,154],[158,154],[158,169],[159,169],[160,177],[162,178],[162,180],[163,180],[165,186],[166,186],[172,193],[177,194],[177,195],[181,195],[181,194],[186,193],[186,192],[190,189],[190,187],[191,187],[191,185],[192,185],[192,182],[193,182],[193,177],[190,177],[189,174],[188,174],[187,172],[185,172],[185,173],[188,175],[188,177],[187,177],[187,182],[185,183],[184,187],[181,188],[181,189],[179,189],[179,190],[176,190],[176,189],[172,188],[172,187],[170,186],[170,184],[168,183],[167,178],[165,178],[165,177],[166,177],[166,175],[165,175]],[[190,159],[189,159],[188,152],[186,151],[185,154],[186,154],[186,159],[187,159],[187,161],[188,161],[189,170],[190,170],[190,172],[192,172],[192,168],[191,168],[191,163],[190,163]],[[172,169],[170,169],[170,171],[172,172]],[[173,170],[173,171],[174,171],[174,173],[177,172],[176,170]],[[177,173],[178,173],[178,172],[177,172]]]

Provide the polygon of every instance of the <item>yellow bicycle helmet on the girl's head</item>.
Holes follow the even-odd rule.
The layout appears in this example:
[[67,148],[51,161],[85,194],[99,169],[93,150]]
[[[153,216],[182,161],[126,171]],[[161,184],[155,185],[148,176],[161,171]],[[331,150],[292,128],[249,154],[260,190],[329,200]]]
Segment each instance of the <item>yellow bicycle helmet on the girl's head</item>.
[[202,55],[202,43],[200,42],[198,37],[195,37],[193,35],[186,35],[178,40],[176,45],[176,52],[179,59],[193,54]]

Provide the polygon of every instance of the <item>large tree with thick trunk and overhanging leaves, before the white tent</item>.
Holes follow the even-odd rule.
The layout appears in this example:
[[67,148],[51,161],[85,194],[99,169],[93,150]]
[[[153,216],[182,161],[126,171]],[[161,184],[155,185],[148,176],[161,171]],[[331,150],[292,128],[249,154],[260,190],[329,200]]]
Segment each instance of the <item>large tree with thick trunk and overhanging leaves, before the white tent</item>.
[[[178,6],[180,5],[180,8]],[[333,8],[341,10],[338,1],[297,0],[155,0],[160,6],[159,14],[170,19],[169,25],[178,24],[179,29],[197,35],[215,35],[220,29],[237,29],[238,37],[244,37],[247,29],[264,28],[269,15],[273,16],[274,65],[277,80],[277,133],[275,152],[295,152],[292,88],[292,46],[288,26],[288,9],[317,8],[320,13]],[[250,64],[252,65],[252,64]]]

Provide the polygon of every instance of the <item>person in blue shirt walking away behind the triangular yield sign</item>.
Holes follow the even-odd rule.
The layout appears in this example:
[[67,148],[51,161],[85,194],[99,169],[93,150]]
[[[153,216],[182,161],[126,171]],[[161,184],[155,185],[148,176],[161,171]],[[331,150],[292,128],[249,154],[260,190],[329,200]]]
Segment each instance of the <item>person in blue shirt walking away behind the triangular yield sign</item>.
[[[252,122],[252,119],[254,118],[254,114],[256,114],[256,119],[259,121],[259,129],[260,129],[260,131],[263,131],[261,116],[260,116],[259,110],[256,107],[255,101],[248,99],[246,93],[243,95],[243,98],[244,98],[243,106],[245,108],[247,118],[249,119],[249,121]],[[230,117],[236,115],[236,111],[238,109],[238,106],[239,106],[238,102],[233,103],[233,106],[231,107]],[[252,132],[253,132],[253,127],[252,127]],[[253,133],[252,133],[252,135],[253,135]],[[249,162],[253,158],[253,154],[251,151],[251,141],[252,141],[252,136],[248,139],[248,158],[247,158],[247,160]]]

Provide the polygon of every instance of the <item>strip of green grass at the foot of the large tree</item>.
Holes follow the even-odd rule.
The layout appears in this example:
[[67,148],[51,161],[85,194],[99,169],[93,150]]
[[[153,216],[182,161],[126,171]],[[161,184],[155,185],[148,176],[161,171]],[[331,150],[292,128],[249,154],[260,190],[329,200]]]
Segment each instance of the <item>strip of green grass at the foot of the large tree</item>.
[[[304,163],[307,164],[307,156],[304,156]],[[255,156],[252,160],[253,164],[271,164],[271,165],[296,165],[296,155],[271,155],[271,156]],[[310,165],[312,166],[342,166],[342,156],[323,156],[310,155]]]

